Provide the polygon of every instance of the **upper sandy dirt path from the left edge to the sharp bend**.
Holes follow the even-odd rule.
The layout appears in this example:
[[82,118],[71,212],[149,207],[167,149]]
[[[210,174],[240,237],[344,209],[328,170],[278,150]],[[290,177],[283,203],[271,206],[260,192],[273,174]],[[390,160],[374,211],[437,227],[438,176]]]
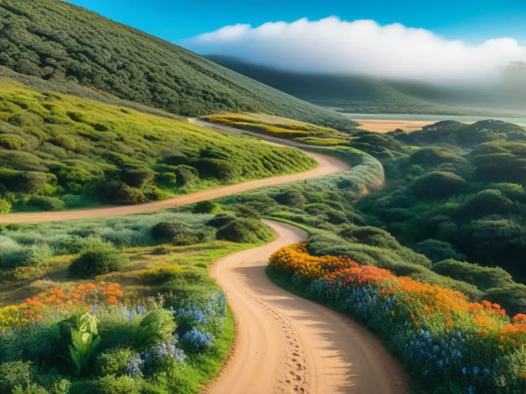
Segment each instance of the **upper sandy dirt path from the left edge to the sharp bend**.
[[[278,144],[276,142],[271,143]],[[280,145],[285,146],[286,144],[280,143]],[[91,217],[99,216],[117,216],[128,215],[132,213],[152,212],[158,211],[160,209],[170,208],[172,206],[191,204],[201,200],[216,199],[225,195],[244,192],[246,190],[260,188],[262,186],[277,185],[281,183],[288,183],[292,181],[321,177],[323,175],[347,171],[351,168],[350,165],[347,164],[345,161],[334,157],[311,152],[304,153],[314,158],[318,162],[318,167],[309,171],[300,172],[296,174],[281,175],[280,177],[258,179],[255,181],[248,181],[234,185],[222,186],[220,188],[203,190],[196,193],[180,195],[171,199],[146,204],[109,206],[105,208],[82,209],[60,212],[11,213],[7,215],[1,215],[0,223],[51,222],[74,219],[88,219]]]

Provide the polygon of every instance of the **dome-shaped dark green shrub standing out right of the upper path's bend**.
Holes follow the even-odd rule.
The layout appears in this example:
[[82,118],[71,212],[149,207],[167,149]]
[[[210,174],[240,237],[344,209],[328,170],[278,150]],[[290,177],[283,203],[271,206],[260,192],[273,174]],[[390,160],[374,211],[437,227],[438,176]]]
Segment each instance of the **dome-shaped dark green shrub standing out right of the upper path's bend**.
[[468,182],[451,172],[433,171],[415,179],[412,183],[414,195],[420,200],[443,199],[459,194]]

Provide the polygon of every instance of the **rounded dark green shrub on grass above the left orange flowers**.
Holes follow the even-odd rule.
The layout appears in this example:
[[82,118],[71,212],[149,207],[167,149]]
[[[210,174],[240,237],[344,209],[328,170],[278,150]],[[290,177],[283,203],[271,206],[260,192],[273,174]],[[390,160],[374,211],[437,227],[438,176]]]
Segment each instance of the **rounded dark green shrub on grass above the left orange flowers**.
[[111,244],[94,246],[73,261],[69,274],[84,278],[103,275],[123,269],[127,261],[126,254]]

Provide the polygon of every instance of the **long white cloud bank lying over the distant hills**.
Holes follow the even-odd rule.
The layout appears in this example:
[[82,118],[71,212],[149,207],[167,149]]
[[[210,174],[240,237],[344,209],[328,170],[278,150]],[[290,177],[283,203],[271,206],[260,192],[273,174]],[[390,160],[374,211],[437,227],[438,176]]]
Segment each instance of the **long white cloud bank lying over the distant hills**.
[[526,61],[526,47],[513,38],[468,45],[425,29],[337,17],[226,26],[181,44],[288,70],[404,79],[487,78],[510,61]]

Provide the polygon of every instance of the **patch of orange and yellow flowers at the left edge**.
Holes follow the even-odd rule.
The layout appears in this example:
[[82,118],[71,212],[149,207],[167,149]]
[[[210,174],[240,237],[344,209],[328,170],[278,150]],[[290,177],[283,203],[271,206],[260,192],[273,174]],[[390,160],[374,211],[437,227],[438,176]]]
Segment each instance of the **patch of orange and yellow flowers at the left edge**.
[[81,310],[98,313],[104,307],[118,305],[123,295],[117,283],[88,283],[70,291],[54,288],[26,298],[20,305],[0,308],[0,331],[16,329],[31,320],[55,321]]

